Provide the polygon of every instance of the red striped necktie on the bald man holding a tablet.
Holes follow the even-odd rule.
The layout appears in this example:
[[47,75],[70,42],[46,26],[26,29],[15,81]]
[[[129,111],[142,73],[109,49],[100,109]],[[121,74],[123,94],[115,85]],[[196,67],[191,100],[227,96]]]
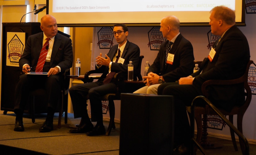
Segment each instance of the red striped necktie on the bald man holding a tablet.
[[37,65],[36,65],[36,72],[43,72],[43,65],[45,63],[46,56],[47,56],[47,53],[48,53],[50,38],[46,38],[46,40],[47,41],[44,43],[43,48],[42,48],[41,53],[40,53],[39,58],[38,58],[38,62],[37,62]]

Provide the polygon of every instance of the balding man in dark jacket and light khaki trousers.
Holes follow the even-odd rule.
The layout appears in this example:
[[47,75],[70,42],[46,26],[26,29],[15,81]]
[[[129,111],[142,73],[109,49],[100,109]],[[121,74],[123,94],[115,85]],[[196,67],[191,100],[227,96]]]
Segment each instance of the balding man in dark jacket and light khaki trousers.
[[[154,63],[149,67],[146,86],[134,93],[157,94],[157,88],[164,82],[175,82],[190,75],[194,68],[192,44],[179,32],[180,21],[175,16],[166,16],[161,20],[160,31],[167,39],[160,46]],[[168,51],[168,44],[170,51]],[[167,52],[167,54],[166,54]]]

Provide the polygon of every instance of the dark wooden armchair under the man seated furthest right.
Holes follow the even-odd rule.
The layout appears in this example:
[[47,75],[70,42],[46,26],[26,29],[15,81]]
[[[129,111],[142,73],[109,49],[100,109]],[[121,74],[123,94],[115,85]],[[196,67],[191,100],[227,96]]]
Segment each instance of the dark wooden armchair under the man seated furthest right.
[[[243,116],[245,114],[245,111],[249,107],[249,104],[251,102],[252,98],[252,92],[251,89],[248,85],[248,72],[249,72],[249,67],[253,63],[253,61],[249,61],[245,70],[245,73],[243,76],[233,79],[233,80],[208,80],[205,81],[201,87],[202,92],[206,98],[209,97],[209,92],[207,87],[210,85],[235,85],[235,84],[240,84],[243,83],[244,88],[245,88],[245,101],[242,104],[242,106],[235,106],[230,112],[225,111],[223,109],[218,109],[223,115],[228,115],[229,116],[229,121],[233,124],[233,115],[237,115],[237,129],[243,133],[242,130],[242,121],[243,121]],[[190,107],[187,107],[187,110],[191,112]],[[203,119],[202,119],[203,115]],[[212,108],[210,108],[208,105],[205,107],[200,107],[196,106],[195,107],[195,121],[197,125],[197,141],[201,142],[201,145],[207,145],[207,115],[218,115]],[[203,120],[203,125],[202,125],[202,120]],[[237,145],[236,145],[236,139],[235,139],[235,134],[234,130],[230,128],[230,134],[231,134],[231,139],[234,145],[234,148],[236,151]],[[243,153],[245,153],[245,145],[242,143],[241,137],[239,137],[239,142],[240,142],[240,147]]]

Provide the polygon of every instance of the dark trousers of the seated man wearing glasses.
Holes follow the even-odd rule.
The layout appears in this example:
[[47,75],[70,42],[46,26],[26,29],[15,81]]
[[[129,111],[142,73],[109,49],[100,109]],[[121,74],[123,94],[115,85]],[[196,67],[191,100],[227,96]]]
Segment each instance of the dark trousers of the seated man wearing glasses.
[[69,89],[69,93],[73,105],[74,118],[88,116],[86,102],[89,96],[92,122],[103,121],[101,96],[108,93],[116,93],[116,88],[117,86],[114,83],[103,85],[103,81],[72,86]]

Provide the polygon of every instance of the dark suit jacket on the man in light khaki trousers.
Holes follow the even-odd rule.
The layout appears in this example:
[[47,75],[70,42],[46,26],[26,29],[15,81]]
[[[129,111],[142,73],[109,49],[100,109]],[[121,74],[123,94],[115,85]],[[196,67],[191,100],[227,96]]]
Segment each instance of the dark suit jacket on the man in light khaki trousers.
[[194,54],[192,44],[179,34],[173,43],[170,53],[174,54],[173,64],[165,65],[165,51],[168,40],[160,46],[155,61],[150,65],[148,72],[162,75],[165,82],[175,82],[181,77],[186,77],[193,73]]

